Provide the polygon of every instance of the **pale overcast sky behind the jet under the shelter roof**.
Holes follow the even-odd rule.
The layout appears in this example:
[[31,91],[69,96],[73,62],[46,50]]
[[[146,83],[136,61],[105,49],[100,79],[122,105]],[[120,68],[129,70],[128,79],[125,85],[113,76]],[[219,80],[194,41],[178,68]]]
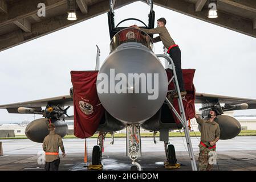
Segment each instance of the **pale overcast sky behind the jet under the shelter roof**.
[[[255,38],[156,5],[154,10],[156,20],[166,18],[166,27],[180,46],[182,68],[196,69],[197,92],[256,99]],[[147,4],[135,2],[115,10],[115,22],[138,18],[148,24],[148,13]],[[132,24],[142,26],[135,21],[120,26]],[[107,14],[103,14],[0,52],[0,105],[69,94],[70,71],[94,70],[96,44],[102,64],[109,42]],[[155,44],[155,53],[162,53],[162,43]],[[72,109],[68,113],[72,115]],[[256,110],[235,114],[256,114]],[[25,119],[31,121],[34,115],[0,110],[1,123]]]

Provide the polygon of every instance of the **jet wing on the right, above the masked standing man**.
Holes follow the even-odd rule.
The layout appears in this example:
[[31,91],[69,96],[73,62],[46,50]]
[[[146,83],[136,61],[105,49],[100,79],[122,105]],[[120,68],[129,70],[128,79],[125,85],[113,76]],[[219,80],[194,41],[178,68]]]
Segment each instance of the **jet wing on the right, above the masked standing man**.
[[248,109],[256,109],[256,99],[220,96],[207,93],[196,93],[196,104],[206,104],[212,101],[219,101],[220,103],[230,105],[246,103],[249,106]]

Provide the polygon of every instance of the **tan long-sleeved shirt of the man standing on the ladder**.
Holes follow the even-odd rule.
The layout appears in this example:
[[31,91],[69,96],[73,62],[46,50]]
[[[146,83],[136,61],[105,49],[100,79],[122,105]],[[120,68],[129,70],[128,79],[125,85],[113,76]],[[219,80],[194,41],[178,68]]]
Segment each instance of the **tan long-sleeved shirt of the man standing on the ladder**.
[[170,46],[175,44],[173,39],[170,37],[170,34],[166,27],[156,27],[152,29],[140,28],[140,29],[146,32],[147,34],[159,34],[159,36],[153,39],[153,42],[162,41],[166,49],[168,49]]

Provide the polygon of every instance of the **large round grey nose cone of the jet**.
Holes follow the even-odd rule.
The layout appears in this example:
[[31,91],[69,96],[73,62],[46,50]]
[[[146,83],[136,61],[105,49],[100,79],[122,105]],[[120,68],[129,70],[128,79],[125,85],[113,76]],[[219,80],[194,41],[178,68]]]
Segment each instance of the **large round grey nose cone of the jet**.
[[160,60],[140,43],[121,44],[107,57],[97,76],[101,104],[125,123],[142,123],[156,114],[167,89]]

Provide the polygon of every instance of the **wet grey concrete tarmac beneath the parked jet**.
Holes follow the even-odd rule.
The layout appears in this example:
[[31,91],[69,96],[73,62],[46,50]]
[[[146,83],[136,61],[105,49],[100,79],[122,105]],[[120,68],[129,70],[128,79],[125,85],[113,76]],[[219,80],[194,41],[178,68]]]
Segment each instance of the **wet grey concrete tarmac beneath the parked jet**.
[[[198,158],[199,138],[192,137],[192,145],[196,160]],[[157,138],[159,140],[159,138]],[[42,164],[38,164],[38,158],[42,153],[42,143],[31,142],[29,139],[1,140],[3,154],[0,157],[0,170],[44,170]],[[88,160],[91,161],[92,147],[96,145],[97,139],[87,139]],[[115,138],[113,145],[111,139],[106,138],[104,142],[104,153],[102,163],[104,170],[129,170],[131,160],[126,156],[126,139]],[[60,162],[60,170],[87,170],[84,167],[84,139],[63,139],[66,149],[66,158]],[[165,159],[163,142],[153,143],[153,138],[141,138],[142,155],[139,163],[143,170],[158,171],[165,170],[163,162]],[[170,138],[176,149],[176,158],[182,166],[176,170],[191,170],[189,155],[185,145],[185,138]],[[61,154],[61,152],[60,152]],[[218,165],[214,170],[256,170],[256,137],[235,137],[230,140],[220,140],[217,143]],[[197,161],[198,164],[198,161]]]

